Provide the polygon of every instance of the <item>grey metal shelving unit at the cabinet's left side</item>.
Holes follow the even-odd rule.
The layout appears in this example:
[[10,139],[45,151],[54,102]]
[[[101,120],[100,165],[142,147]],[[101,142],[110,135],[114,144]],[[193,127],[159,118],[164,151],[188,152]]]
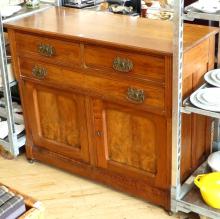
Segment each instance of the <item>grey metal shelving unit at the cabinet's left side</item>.
[[60,0],[55,0],[52,4],[51,2],[42,2],[39,8],[27,9],[25,5],[22,9],[15,15],[3,19],[0,14],[0,74],[2,76],[3,87],[0,88],[3,91],[5,107],[0,107],[0,117],[7,120],[8,124],[8,137],[5,139],[0,139],[0,145],[9,151],[12,156],[17,156],[19,154],[19,148],[25,145],[26,138],[25,135],[19,137],[15,131],[15,124],[23,124],[23,117],[13,111],[12,97],[11,97],[11,87],[13,87],[16,82],[9,82],[8,69],[7,69],[7,55],[5,51],[5,38],[4,38],[4,23],[9,21],[14,21],[25,16],[29,16],[38,13],[43,10],[47,10],[53,5],[60,6]]

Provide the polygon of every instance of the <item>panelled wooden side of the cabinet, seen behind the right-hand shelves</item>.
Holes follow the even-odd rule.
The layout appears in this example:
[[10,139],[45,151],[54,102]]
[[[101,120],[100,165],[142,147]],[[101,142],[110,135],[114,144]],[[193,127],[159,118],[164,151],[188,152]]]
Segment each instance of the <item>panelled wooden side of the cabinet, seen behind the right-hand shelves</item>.
[[[214,36],[184,54],[183,99],[204,82],[204,74],[214,67]],[[182,116],[181,180],[203,162],[211,146],[211,124],[205,116]]]

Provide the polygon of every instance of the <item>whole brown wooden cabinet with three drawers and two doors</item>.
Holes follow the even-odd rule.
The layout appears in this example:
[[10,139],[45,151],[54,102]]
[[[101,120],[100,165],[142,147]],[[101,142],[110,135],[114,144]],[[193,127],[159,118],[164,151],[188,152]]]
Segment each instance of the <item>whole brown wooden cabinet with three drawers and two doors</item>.
[[[6,27],[27,157],[170,209],[172,24],[52,8]],[[184,96],[213,67],[217,30],[185,32]],[[206,156],[209,124],[183,118],[182,180]]]

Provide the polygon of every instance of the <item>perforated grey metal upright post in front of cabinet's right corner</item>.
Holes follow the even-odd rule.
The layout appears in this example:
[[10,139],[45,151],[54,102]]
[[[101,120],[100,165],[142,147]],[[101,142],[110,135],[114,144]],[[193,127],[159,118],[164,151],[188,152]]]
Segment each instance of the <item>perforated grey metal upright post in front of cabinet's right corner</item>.
[[183,0],[174,1],[173,18],[173,80],[172,80],[172,189],[171,210],[176,212],[180,198],[181,106],[183,72]]

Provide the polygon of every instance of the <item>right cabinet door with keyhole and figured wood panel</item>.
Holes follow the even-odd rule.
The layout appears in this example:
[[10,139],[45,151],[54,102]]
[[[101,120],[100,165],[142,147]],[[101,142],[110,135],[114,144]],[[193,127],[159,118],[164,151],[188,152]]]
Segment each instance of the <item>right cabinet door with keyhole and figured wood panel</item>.
[[162,116],[93,101],[97,165],[168,188],[167,122]]

